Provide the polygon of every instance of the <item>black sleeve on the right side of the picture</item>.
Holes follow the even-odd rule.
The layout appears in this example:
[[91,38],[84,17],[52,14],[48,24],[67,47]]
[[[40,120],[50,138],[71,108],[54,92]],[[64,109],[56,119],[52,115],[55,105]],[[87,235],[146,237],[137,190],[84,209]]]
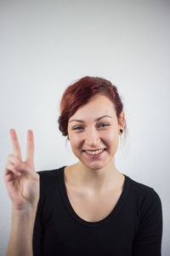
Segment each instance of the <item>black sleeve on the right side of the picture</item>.
[[161,199],[150,190],[140,212],[139,230],[133,241],[133,256],[161,256],[162,210]]

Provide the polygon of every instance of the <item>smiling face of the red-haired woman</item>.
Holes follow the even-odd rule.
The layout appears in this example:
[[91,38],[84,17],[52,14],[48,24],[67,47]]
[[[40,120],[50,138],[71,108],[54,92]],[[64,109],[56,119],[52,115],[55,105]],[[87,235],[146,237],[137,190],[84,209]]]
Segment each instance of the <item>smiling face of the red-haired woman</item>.
[[69,119],[71,149],[88,168],[104,168],[116,154],[122,128],[113,102],[107,96],[93,96]]

